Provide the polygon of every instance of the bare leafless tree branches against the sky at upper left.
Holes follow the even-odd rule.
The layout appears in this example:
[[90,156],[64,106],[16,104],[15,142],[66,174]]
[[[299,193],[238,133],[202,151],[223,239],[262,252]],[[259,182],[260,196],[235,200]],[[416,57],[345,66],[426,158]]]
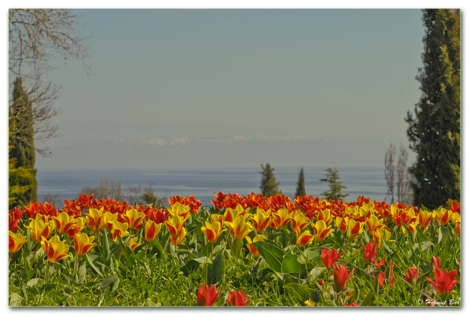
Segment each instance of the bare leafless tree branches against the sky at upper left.
[[[10,75],[10,96],[15,77],[23,79],[25,91],[32,104],[36,150],[43,156],[50,156],[47,147],[39,148],[41,141],[57,137],[58,126],[51,118],[60,111],[53,107],[60,96],[61,86],[47,82],[44,78],[55,67],[51,61],[57,57],[67,60],[81,60],[89,74],[91,66],[86,59],[91,57],[90,37],[84,37],[77,29],[78,15],[67,9],[9,9],[8,10],[8,69]],[[9,106],[13,98],[10,97]],[[10,111],[12,113],[12,111]],[[10,124],[24,120],[21,111],[10,117]],[[17,133],[21,134],[21,129]]]

